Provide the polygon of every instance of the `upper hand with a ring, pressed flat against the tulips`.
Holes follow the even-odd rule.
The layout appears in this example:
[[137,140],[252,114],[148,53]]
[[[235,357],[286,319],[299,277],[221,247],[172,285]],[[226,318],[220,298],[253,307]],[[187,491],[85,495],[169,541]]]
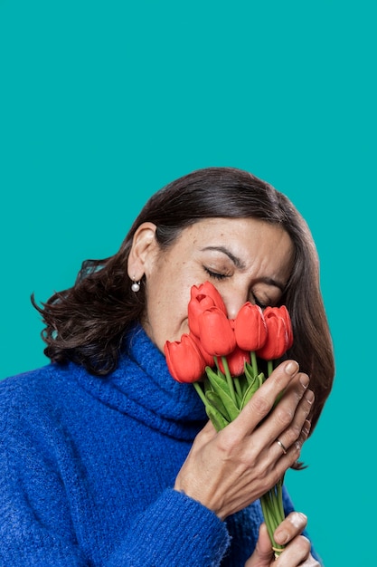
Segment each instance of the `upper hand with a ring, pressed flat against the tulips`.
[[221,520],[265,494],[295,463],[309,433],[314,394],[308,383],[297,362],[282,362],[231,424],[219,432],[211,422],[203,428],[176,477],[175,490]]

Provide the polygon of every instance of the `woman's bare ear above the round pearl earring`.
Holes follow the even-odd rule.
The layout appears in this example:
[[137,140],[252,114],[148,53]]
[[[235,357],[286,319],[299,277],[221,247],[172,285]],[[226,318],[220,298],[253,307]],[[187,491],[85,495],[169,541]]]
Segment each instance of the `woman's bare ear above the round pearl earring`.
[[127,273],[131,280],[141,280],[148,263],[156,255],[156,228],[153,223],[143,223],[137,228],[127,262]]

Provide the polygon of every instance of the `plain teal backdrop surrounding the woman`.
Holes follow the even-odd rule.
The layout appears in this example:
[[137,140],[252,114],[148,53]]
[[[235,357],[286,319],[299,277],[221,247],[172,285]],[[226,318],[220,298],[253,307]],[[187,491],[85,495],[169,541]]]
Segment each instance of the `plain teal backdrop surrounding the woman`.
[[326,567],[375,555],[375,2],[0,0],[0,378],[38,301],[196,168],[269,180],[321,258],[336,378],[287,485]]

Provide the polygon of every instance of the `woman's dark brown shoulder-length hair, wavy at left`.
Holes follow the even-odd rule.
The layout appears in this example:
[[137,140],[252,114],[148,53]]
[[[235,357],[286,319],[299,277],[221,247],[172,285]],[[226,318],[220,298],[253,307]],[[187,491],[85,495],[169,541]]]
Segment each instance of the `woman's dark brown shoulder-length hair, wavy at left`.
[[70,289],[54,293],[39,307],[46,324],[44,353],[52,361],[73,360],[90,372],[106,375],[117,367],[129,328],[145,310],[145,285],[131,291],[127,258],[137,227],[157,226],[161,248],[174,244],[186,226],[209,217],[251,217],[282,226],[290,235],[295,260],[280,304],[292,317],[295,336],[288,356],[311,377],[316,393],[312,429],[334,378],[332,341],[319,287],[316,246],[297,209],[265,181],[236,168],[204,168],[176,179],[156,192],[137,216],[116,255],[87,260]]

